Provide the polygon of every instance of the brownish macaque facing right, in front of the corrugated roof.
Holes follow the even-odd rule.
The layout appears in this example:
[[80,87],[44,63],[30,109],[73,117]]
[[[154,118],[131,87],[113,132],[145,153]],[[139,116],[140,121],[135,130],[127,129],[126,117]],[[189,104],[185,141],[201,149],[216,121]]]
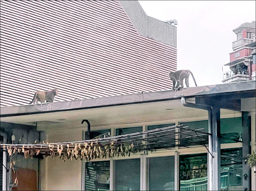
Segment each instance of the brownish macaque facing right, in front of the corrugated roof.
[[48,92],[43,92],[43,91],[37,91],[34,95],[34,98],[29,104],[36,104],[37,101],[43,103],[45,100],[46,102],[53,102],[54,97],[58,95],[58,90],[53,89]]

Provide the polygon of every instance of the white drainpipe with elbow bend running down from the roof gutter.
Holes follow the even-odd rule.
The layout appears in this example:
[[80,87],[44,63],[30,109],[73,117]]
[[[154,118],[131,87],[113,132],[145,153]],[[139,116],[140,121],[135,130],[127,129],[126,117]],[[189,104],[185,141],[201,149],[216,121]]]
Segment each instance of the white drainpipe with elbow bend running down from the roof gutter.
[[[197,109],[204,109],[208,111],[208,133],[212,134],[212,107],[196,105],[194,103],[186,102],[184,97],[181,97],[181,104],[185,107],[193,107]],[[209,135],[209,152],[212,154],[212,135]],[[208,154],[208,189],[212,190],[212,155]]]

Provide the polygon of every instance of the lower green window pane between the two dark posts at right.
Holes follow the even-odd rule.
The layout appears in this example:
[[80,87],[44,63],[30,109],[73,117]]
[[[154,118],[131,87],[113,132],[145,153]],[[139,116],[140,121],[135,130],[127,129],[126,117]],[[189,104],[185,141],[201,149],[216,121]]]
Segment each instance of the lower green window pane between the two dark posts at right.
[[221,190],[243,190],[242,148],[221,149]]

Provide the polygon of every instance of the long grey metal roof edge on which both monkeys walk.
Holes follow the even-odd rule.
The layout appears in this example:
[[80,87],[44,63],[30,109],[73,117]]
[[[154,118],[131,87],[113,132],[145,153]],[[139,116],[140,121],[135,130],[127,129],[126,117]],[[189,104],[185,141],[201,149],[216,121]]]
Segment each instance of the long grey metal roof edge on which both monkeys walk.
[[157,92],[142,92],[102,98],[78,99],[21,106],[4,106],[1,107],[0,117],[166,101],[181,99],[181,97],[196,97],[211,94],[214,95],[230,92],[252,91],[255,90],[255,88],[255,80],[251,80],[227,84],[182,88],[182,90],[179,89],[179,91],[176,91],[176,95],[174,90],[163,90]]

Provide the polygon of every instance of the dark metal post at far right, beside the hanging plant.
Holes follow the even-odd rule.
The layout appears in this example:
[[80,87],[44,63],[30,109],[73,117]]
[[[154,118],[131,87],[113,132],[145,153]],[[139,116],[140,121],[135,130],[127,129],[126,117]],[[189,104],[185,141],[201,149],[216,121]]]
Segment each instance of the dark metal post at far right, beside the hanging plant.
[[242,127],[243,127],[243,189],[251,190],[251,172],[245,158],[250,154],[250,121],[248,112],[242,112]]

